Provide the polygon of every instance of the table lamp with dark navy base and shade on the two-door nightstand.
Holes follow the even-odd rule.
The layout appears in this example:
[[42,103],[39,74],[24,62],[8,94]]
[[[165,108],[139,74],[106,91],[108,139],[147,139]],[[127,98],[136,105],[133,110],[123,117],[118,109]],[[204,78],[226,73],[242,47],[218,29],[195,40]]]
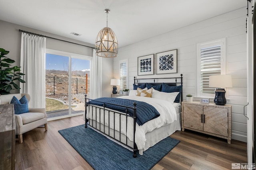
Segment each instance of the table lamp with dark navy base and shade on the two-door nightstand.
[[221,87],[215,89],[214,103],[216,105],[225,105],[227,103],[224,88],[233,87],[231,75],[214,75],[209,76],[209,87]]

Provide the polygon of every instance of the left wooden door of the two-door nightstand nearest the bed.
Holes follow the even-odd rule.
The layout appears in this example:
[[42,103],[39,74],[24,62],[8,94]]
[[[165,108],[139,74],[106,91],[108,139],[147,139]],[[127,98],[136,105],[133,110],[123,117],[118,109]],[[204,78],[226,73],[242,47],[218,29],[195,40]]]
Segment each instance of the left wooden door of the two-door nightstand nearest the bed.
[[184,127],[203,131],[202,115],[203,106],[184,104]]

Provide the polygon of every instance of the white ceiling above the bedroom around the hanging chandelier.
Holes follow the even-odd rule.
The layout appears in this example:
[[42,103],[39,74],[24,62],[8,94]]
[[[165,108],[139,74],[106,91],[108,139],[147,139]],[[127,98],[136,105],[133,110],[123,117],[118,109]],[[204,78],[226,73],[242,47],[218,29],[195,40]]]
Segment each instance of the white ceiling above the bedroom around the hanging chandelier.
[[119,47],[124,47],[245,7],[247,1],[0,0],[0,6],[0,20],[91,44],[106,27],[104,10],[110,9],[108,27],[115,32]]

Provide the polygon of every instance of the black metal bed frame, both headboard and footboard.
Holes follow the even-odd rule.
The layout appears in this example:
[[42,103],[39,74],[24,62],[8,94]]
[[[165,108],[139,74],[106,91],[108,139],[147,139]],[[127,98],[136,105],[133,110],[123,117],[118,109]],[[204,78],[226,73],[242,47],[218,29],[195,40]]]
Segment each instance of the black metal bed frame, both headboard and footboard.
[[[162,84],[162,83],[156,83],[155,82],[155,80],[156,79],[175,79],[175,82],[171,82],[171,83],[166,83],[166,84],[168,84],[169,86],[177,86],[177,84],[180,84],[180,85],[182,85],[183,84],[183,82],[182,82],[182,77],[183,75],[182,74],[180,74],[180,77],[174,77],[174,78],[135,78],[134,77],[134,84],[137,84],[137,85],[141,85],[141,84],[144,84],[144,83],[140,83],[139,82],[139,80],[154,80],[154,83],[150,83],[150,84],[152,84],[152,85],[159,85],[159,84]],[[177,82],[177,79],[180,79],[180,82]],[[136,82],[136,80],[137,80],[137,82]],[[90,101],[90,100],[93,100],[93,99],[89,99],[89,98],[87,98],[87,95],[85,95],[85,101]],[[181,101],[182,101],[182,91],[181,91]],[[85,128],[87,128],[87,125],[89,125],[91,128],[93,128],[93,129],[95,129],[96,131],[100,131],[101,133],[103,133],[104,135],[107,135],[108,137],[110,137],[110,138],[112,138],[112,139],[114,139],[115,141],[118,141],[119,143],[121,143],[121,144],[123,144],[123,145],[125,145],[126,147],[129,147],[130,149],[133,149],[133,157],[134,158],[136,158],[137,157],[137,151],[138,151],[138,148],[137,148],[137,145],[136,145],[136,143],[135,143],[135,131],[136,131],[136,102],[134,102],[133,103],[133,105],[134,105],[134,107],[129,107],[129,106],[122,106],[122,105],[118,105],[118,104],[113,104],[113,105],[115,105],[115,106],[122,106],[122,107],[126,107],[126,111],[125,111],[125,113],[120,113],[120,112],[115,112],[115,111],[113,111],[113,110],[110,110],[110,109],[108,109],[108,108],[106,108],[105,107],[105,104],[110,104],[110,103],[107,103],[107,102],[104,102],[104,104],[102,105],[102,106],[95,106],[95,105],[90,105],[90,104],[88,104],[88,102],[86,102],[85,103]],[[91,106],[91,109],[93,110],[93,107],[95,107],[95,118],[96,118],[96,120],[95,120],[95,126],[93,125],[94,123],[93,123],[93,119],[92,119],[92,125],[90,125],[90,120],[89,119],[87,119],[86,118],[86,114],[87,114],[87,106],[88,106],[88,113],[90,113],[90,106]],[[102,108],[103,107],[103,108]],[[101,129],[101,127],[99,127],[99,128],[97,128],[97,108],[99,109],[99,112],[101,111],[101,110],[103,110],[103,114],[104,114],[104,122],[103,122],[103,125],[104,125],[104,129],[102,130]],[[130,108],[130,109],[133,109],[133,115],[132,116],[130,116],[129,114],[128,114],[128,108]],[[112,137],[112,136],[110,136],[110,111],[112,111],[113,112],[113,117],[114,117],[114,119],[113,119],[113,122],[114,122],[114,137]],[[107,133],[105,133],[105,115],[106,114],[108,114],[108,134]],[[119,114],[119,139],[116,139],[115,138],[115,114]],[[101,114],[99,113],[99,116],[100,116]],[[126,116],[126,143],[124,143],[124,142],[122,142],[121,141],[121,115],[124,115],[124,116]],[[133,147],[130,147],[129,145],[128,145],[128,143],[127,143],[127,141],[128,141],[128,139],[127,139],[127,119],[128,119],[128,117],[132,117],[132,119],[133,119],[133,127],[134,127],[134,131],[133,131],[133,137],[134,137],[134,139],[133,139]],[[92,118],[93,118],[93,111],[92,111]],[[101,117],[99,117],[99,118],[101,118]],[[99,126],[101,125],[101,119],[100,119],[100,122],[99,122]]]

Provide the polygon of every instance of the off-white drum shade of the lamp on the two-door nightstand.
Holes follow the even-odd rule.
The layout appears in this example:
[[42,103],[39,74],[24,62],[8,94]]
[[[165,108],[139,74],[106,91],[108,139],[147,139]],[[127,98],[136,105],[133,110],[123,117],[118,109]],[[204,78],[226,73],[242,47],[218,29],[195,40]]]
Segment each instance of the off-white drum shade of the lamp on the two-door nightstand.
[[233,87],[231,75],[209,76],[209,87],[225,88]]

